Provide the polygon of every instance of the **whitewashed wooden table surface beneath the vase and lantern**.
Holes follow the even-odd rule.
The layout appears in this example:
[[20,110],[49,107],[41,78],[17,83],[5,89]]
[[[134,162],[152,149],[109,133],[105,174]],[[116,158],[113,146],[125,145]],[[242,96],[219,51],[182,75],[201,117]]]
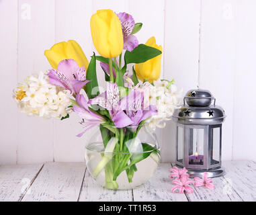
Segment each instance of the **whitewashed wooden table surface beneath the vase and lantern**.
[[224,161],[226,175],[214,178],[216,189],[171,193],[171,163],[161,163],[155,175],[132,190],[99,187],[85,163],[44,163],[0,166],[0,201],[256,201],[256,163]]

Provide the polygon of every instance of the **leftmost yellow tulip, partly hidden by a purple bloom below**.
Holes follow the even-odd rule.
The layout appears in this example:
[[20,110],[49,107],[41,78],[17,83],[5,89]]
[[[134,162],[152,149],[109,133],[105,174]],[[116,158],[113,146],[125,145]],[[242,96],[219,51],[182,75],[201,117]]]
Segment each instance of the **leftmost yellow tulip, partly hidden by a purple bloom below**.
[[65,59],[73,59],[77,61],[79,67],[85,67],[86,70],[89,64],[83,50],[75,40],[54,44],[50,50],[44,51],[44,55],[54,69],[57,69],[58,63]]

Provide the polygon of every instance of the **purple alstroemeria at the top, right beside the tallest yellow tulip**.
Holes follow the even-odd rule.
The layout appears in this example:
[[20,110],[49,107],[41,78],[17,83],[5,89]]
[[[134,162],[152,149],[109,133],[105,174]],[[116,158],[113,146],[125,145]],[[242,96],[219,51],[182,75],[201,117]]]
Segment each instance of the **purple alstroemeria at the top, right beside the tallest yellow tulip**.
[[131,52],[138,46],[138,40],[136,36],[132,35],[135,22],[132,15],[128,13],[118,13],[118,18],[122,24],[122,32],[124,37],[124,50]]

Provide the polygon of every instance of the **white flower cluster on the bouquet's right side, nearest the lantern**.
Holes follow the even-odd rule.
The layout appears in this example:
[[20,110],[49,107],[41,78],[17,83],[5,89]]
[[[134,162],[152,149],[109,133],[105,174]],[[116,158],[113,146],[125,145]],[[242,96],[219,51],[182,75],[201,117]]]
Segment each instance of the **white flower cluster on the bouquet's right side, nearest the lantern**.
[[154,81],[153,85],[144,83],[144,101],[146,105],[157,105],[158,114],[145,122],[148,130],[164,128],[166,120],[171,120],[175,108],[181,105],[182,90],[178,91],[172,81]]

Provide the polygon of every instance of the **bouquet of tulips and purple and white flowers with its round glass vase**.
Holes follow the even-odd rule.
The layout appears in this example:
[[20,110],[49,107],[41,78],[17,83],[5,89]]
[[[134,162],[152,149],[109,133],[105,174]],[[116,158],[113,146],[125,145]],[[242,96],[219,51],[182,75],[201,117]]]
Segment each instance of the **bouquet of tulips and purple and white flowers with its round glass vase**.
[[[64,120],[77,113],[83,126],[79,137],[96,130],[85,160],[91,175],[108,189],[128,189],[153,175],[160,161],[154,130],[165,126],[180,101],[173,81],[159,80],[162,47],[154,37],[138,44],[134,34],[141,28],[128,13],[97,11],[91,36],[100,55],[94,53],[88,62],[74,40],[54,44],[45,51],[52,69],[27,77],[13,95],[30,116]],[[97,61],[105,91],[99,90]],[[135,64],[132,71],[128,64]]]

